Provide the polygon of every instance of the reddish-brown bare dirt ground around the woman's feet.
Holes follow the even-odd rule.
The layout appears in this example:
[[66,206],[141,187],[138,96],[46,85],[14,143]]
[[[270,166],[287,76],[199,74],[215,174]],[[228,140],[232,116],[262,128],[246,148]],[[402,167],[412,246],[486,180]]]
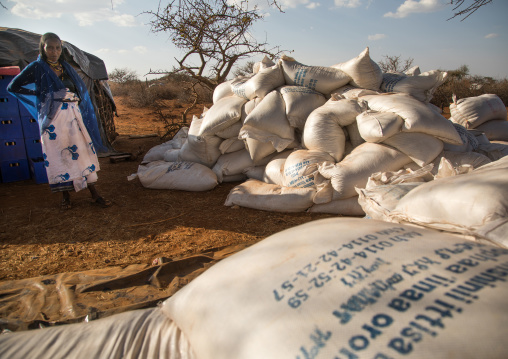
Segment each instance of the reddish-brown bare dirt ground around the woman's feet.
[[[149,108],[132,109],[116,98],[119,136],[113,147],[137,155],[111,163],[100,158],[97,189],[113,202],[110,208],[91,203],[88,191],[73,193],[72,208],[60,210],[61,195],[34,180],[0,183],[0,281],[152,263],[155,258],[181,258],[240,243],[253,244],[273,233],[326,214],[275,213],[224,206],[238,183],[223,183],[207,192],[150,190],[137,172],[143,155],[162,143],[162,124]],[[168,110],[185,106],[168,103]],[[191,114],[200,114],[199,105]],[[192,117],[192,116],[191,116]]]

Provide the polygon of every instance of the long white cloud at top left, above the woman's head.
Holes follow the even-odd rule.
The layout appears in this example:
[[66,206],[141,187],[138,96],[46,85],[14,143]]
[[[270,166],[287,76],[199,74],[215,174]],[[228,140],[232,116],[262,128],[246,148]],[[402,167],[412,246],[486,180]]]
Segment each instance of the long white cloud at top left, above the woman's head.
[[124,0],[10,0],[11,12],[19,17],[40,20],[72,16],[79,26],[91,26],[98,21],[110,21],[117,26],[136,26],[134,16],[121,14],[118,5]]

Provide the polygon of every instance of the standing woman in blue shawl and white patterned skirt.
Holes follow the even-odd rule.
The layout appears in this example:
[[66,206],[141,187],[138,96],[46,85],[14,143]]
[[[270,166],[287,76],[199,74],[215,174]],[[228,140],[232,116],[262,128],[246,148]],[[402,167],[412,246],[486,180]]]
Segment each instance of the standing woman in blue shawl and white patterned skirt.
[[71,208],[70,191],[88,188],[93,203],[111,202],[95,188],[101,147],[97,119],[83,80],[62,58],[62,42],[42,35],[39,57],[16,76],[8,91],[38,119],[44,165],[52,192],[62,192],[61,208]]

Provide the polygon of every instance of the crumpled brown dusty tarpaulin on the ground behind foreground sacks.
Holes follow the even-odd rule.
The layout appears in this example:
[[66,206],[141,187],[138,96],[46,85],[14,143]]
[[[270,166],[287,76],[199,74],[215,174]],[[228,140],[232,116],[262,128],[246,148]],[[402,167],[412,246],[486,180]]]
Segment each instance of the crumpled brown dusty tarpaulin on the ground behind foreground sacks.
[[3,281],[0,329],[77,323],[153,307],[218,260],[245,247],[218,248],[152,266],[133,264]]

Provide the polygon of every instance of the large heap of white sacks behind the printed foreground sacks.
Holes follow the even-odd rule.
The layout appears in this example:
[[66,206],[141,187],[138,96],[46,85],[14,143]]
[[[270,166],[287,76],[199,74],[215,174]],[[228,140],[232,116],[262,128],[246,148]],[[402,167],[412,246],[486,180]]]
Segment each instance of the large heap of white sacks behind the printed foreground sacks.
[[[498,96],[454,99],[450,120],[430,104],[446,77],[418,67],[383,73],[368,48],[330,67],[265,58],[252,75],[219,85],[213,106],[152,148],[137,177],[189,191],[244,181],[227,206],[364,215],[358,190],[373,174],[421,183],[508,154],[507,142],[491,142],[508,141]],[[438,173],[440,164],[449,171]]]

